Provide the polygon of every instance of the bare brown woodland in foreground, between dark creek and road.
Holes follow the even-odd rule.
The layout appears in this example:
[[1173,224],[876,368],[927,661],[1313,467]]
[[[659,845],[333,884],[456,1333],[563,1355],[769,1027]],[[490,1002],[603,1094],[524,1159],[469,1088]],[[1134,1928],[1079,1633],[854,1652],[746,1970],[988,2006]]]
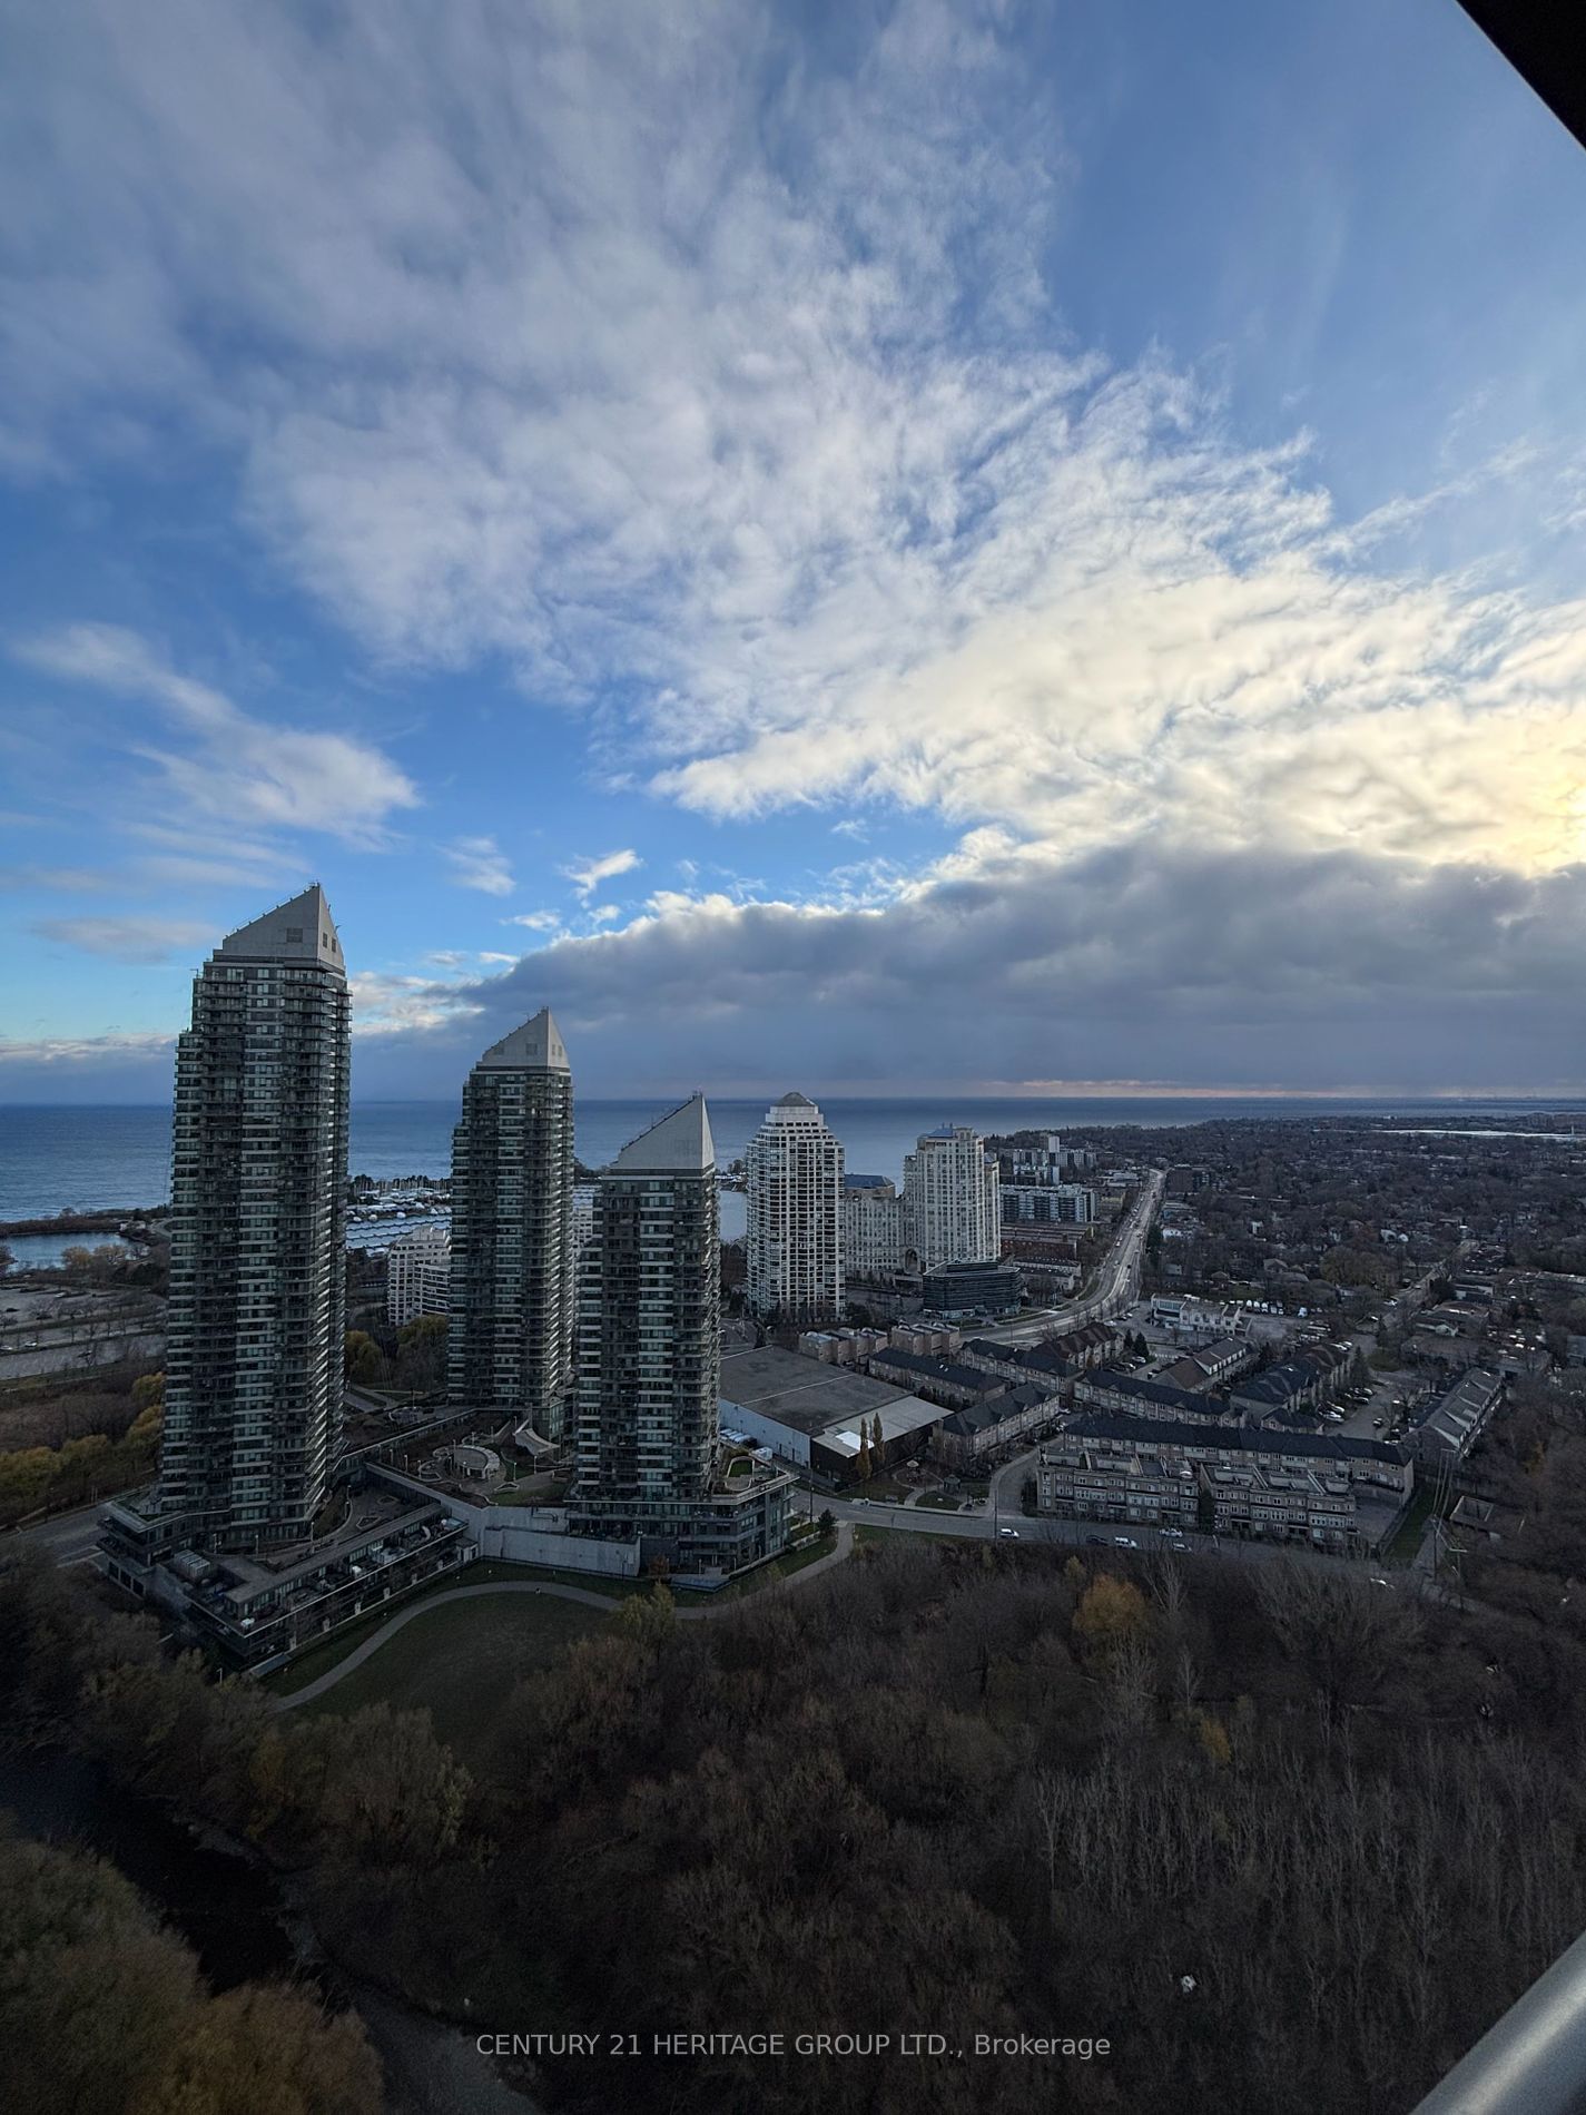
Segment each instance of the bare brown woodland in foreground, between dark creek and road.
[[457,2020],[1112,2043],[546,2064],[579,2115],[1402,2111],[1586,1925],[1582,1643],[1341,1569],[899,1542],[711,1624],[634,1599],[469,1777],[11,1563],[0,1703],[307,1861],[332,1952]]

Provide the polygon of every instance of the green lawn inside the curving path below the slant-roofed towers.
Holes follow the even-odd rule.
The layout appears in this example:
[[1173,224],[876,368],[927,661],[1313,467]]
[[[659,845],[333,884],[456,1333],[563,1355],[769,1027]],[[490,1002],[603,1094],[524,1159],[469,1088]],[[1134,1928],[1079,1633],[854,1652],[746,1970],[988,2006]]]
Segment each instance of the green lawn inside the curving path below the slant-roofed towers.
[[474,1770],[488,1766],[495,1713],[512,1684],[550,1667],[577,1637],[611,1622],[552,1595],[488,1595],[425,1610],[305,1713],[389,1703],[425,1709],[436,1732]]

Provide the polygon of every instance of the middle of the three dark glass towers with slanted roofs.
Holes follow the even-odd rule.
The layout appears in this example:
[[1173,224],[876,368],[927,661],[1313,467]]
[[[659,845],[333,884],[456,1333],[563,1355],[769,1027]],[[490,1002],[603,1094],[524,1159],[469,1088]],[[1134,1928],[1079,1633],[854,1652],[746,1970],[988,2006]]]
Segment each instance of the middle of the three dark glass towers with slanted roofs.
[[573,1072],[539,1011],[467,1074],[453,1132],[453,1402],[501,1404],[563,1438],[573,1265]]

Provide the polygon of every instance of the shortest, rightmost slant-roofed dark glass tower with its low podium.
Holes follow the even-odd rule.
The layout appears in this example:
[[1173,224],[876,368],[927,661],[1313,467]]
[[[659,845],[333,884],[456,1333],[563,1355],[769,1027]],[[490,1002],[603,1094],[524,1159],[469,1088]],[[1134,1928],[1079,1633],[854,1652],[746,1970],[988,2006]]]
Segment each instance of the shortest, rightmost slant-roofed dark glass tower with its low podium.
[[601,1174],[579,1261],[569,1531],[639,1538],[645,1561],[702,1574],[787,1544],[791,1478],[723,1455],[719,1375],[717,1155],[696,1093]]

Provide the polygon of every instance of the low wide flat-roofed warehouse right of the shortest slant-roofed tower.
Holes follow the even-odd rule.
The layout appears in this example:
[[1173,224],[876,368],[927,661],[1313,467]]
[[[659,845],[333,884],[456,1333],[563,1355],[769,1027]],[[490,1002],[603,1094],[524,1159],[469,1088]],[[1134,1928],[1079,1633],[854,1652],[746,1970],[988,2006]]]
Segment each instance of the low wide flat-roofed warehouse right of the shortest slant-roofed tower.
[[776,1345],[721,1354],[721,1430],[740,1432],[816,1476],[854,1478],[861,1421],[873,1447],[880,1417],[882,1461],[901,1461],[924,1449],[945,1415],[941,1404],[905,1396],[888,1381]]

